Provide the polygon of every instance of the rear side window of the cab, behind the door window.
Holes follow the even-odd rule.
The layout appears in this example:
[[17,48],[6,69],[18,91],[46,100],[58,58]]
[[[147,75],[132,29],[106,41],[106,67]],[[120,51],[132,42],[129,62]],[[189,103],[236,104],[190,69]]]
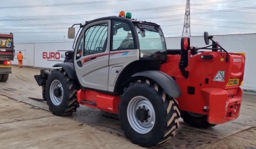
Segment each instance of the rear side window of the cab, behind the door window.
[[112,39],[112,50],[134,49],[131,28],[126,22],[114,21]]

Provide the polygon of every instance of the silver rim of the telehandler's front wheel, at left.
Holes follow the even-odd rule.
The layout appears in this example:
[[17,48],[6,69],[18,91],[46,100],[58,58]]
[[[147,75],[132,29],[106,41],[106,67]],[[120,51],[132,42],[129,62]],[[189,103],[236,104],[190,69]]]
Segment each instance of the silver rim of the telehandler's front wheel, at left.
[[[59,97],[56,97],[54,95],[54,90],[56,88],[59,88],[61,90],[61,95]],[[52,103],[55,106],[59,106],[61,104],[62,99],[63,99],[63,87],[62,87],[61,82],[59,80],[53,80],[53,82],[51,83],[51,85],[50,85],[50,98],[51,98]]]

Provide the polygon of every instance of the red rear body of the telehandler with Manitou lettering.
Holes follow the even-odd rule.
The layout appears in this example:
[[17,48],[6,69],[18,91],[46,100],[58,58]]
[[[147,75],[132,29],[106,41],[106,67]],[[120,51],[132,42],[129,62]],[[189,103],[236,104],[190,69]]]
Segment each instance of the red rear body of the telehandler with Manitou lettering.
[[[212,55],[213,59],[201,59],[201,55]],[[187,79],[183,77],[179,69],[180,55],[168,55],[167,57],[160,71],[175,77],[179,84],[182,96],[177,100],[181,110],[207,114],[208,122],[213,124],[224,123],[238,117],[242,100],[242,89],[239,85],[243,81],[245,62],[243,55],[229,53],[228,62],[224,60],[226,53],[223,52],[203,52],[192,58],[189,57],[189,65],[186,68],[189,71]],[[223,82],[214,81],[219,71],[225,71]],[[226,87],[231,78],[239,78],[238,85]],[[194,87],[194,94],[189,93],[188,86]],[[237,106],[235,117],[228,115],[232,106]]]

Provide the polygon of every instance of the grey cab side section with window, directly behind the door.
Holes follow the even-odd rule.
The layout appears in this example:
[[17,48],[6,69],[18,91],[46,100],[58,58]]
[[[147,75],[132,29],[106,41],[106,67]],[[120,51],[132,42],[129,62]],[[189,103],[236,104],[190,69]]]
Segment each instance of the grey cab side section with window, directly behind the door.
[[113,34],[109,53],[108,91],[114,92],[117,78],[124,68],[139,60],[139,47],[136,46],[136,30],[133,24],[112,20]]

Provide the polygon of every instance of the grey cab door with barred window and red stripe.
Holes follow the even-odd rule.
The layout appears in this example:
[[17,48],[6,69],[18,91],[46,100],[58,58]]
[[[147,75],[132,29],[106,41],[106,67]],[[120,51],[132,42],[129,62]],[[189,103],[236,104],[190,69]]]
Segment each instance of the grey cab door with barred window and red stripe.
[[111,20],[88,24],[76,43],[74,67],[80,84],[86,88],[108,88]]

